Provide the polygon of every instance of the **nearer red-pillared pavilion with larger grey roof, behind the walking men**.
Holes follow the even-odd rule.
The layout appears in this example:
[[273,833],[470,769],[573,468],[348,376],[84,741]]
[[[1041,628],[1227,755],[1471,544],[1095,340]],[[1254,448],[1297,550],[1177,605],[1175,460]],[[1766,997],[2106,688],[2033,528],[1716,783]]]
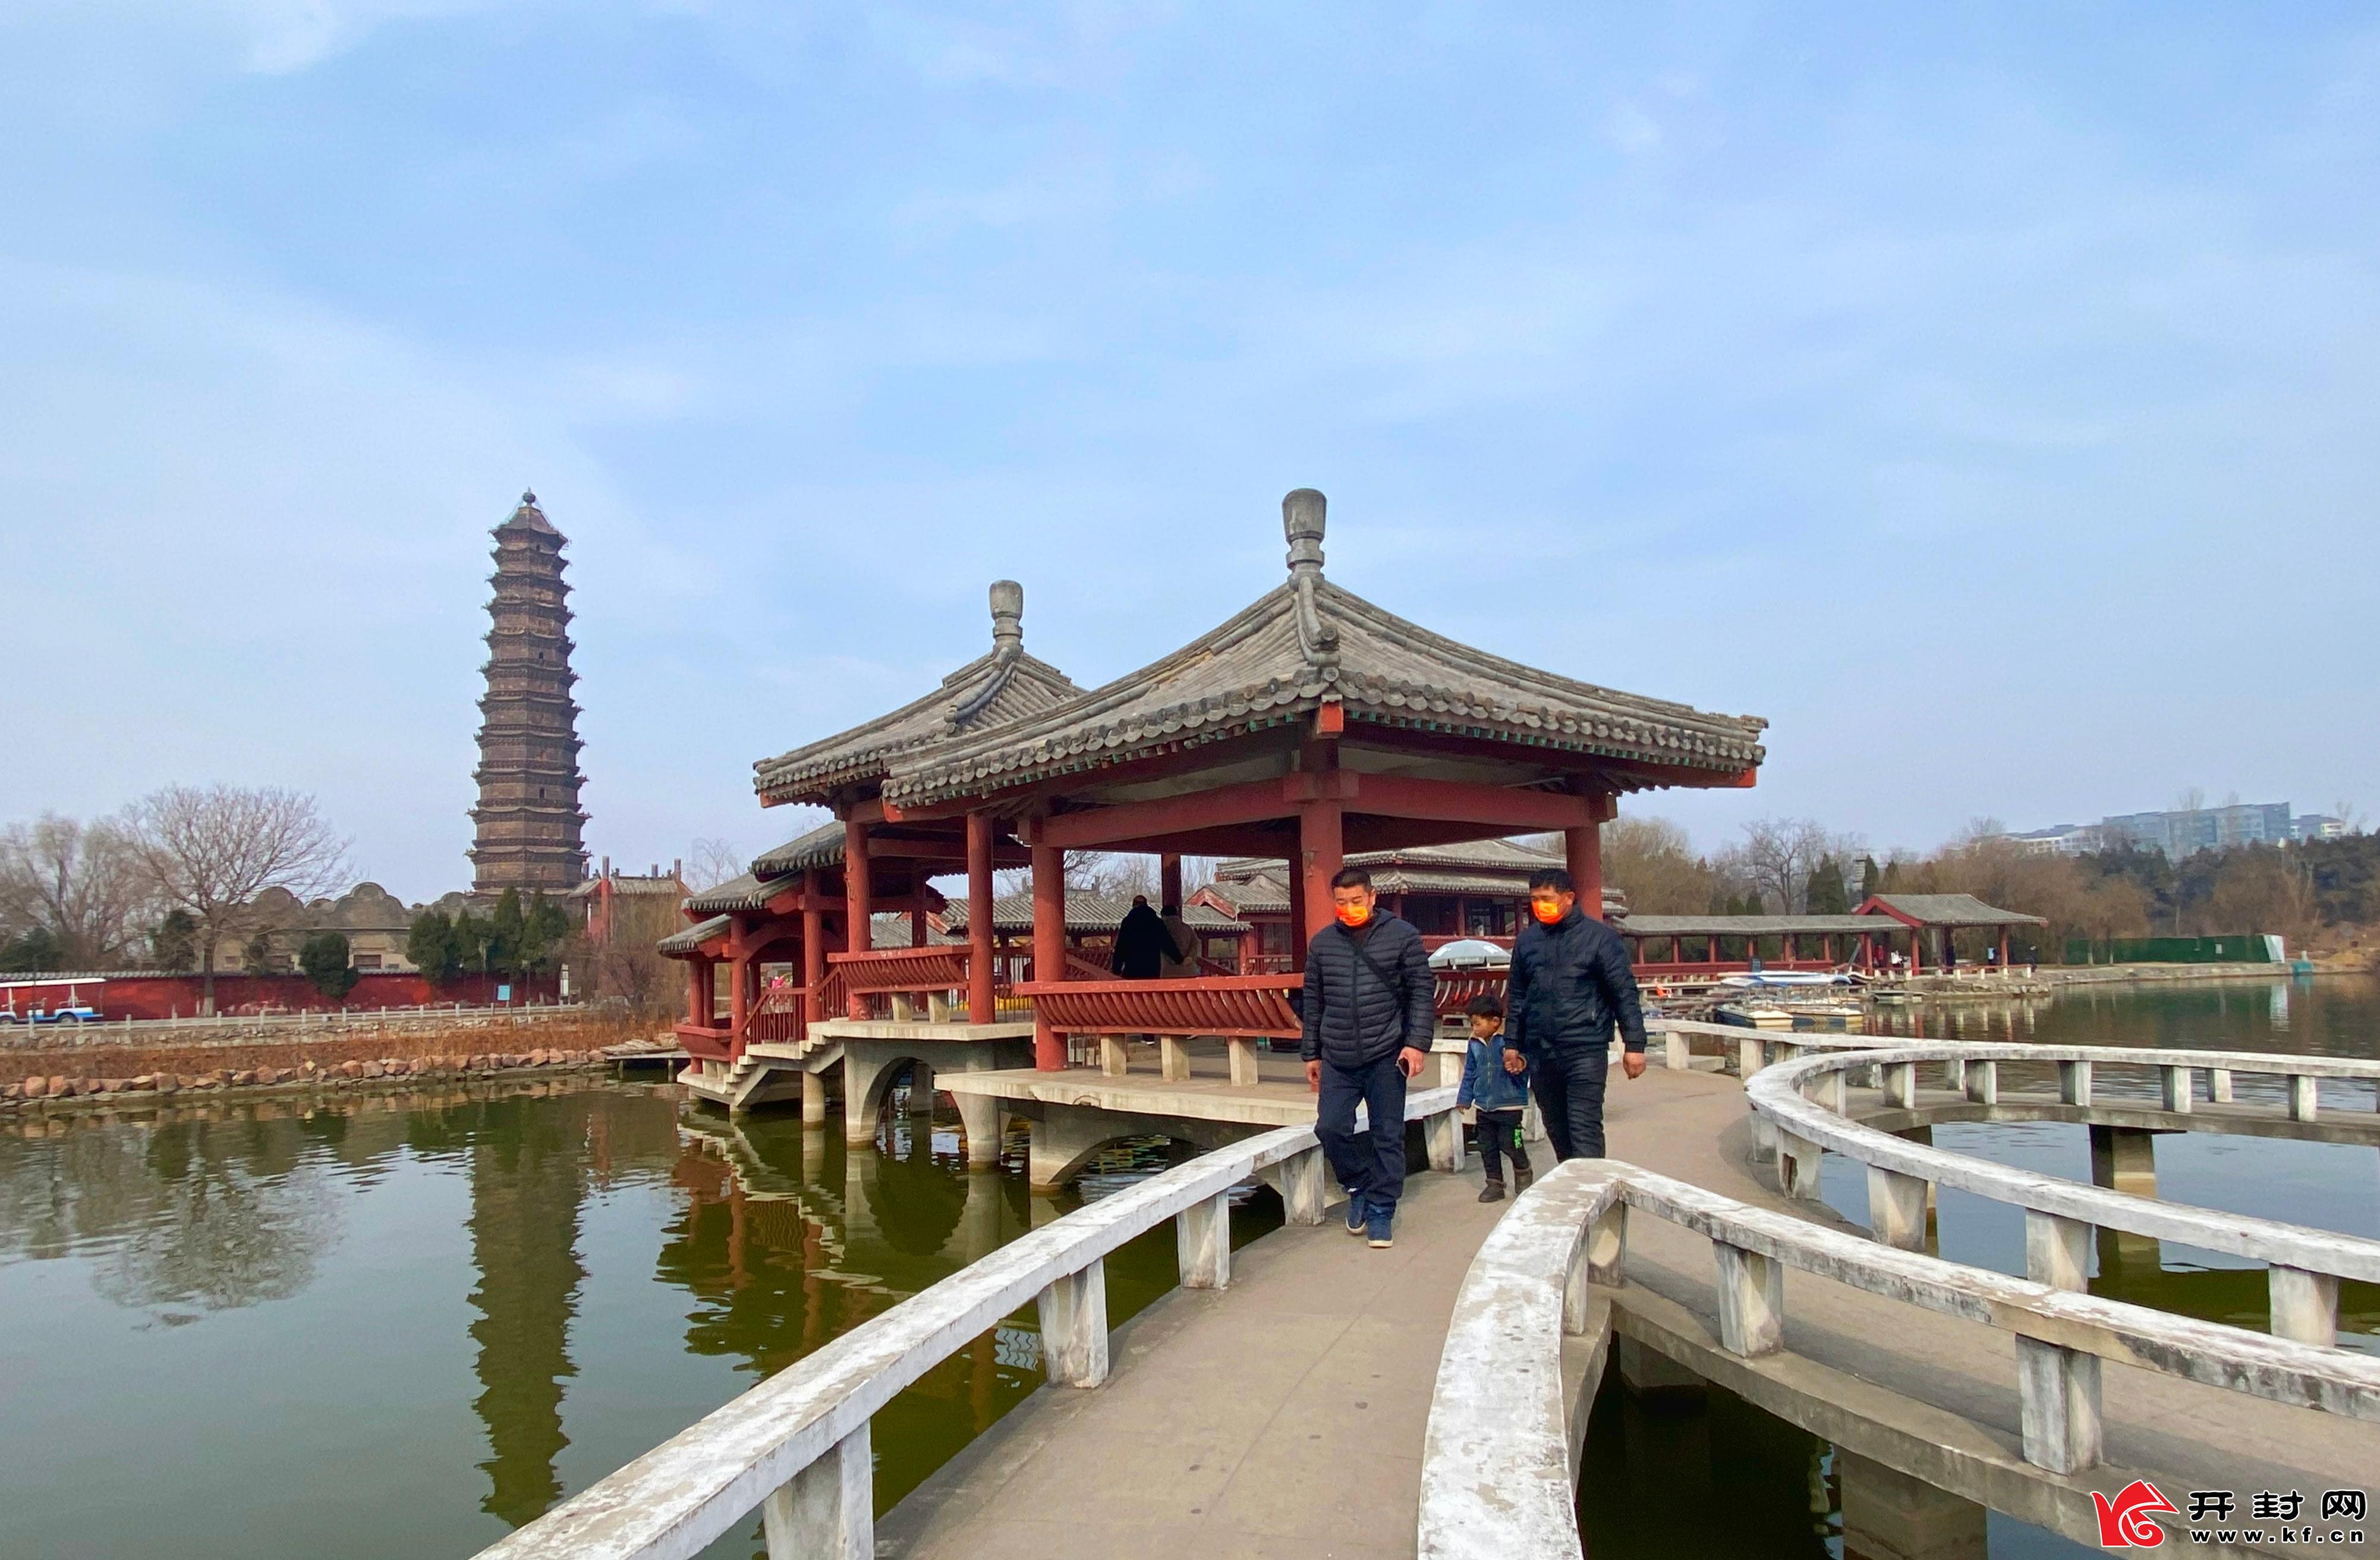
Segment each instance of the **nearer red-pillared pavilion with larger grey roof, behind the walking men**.
[[[1580,898],[1599,907],[1599,824],[1621,793],[1754,784],[1759,717],[1616,693],[1430,634],[1323,576],[1323,514],[1321,493],[1290,493],[1288,579],[1180,650],[1088,693],[1035,686],[1035,707],[1007,719],[878,748],[881,767],[840,791],[802,781],[793,795],[778,776],[814,767],[797,762],[809,750],[774,760],[762,800],[835,807],[845,924],[866,924],[876,886],[854,865],[902,850],[921,869],[964,843],[971,1019],[992,1015],[992,867],[1004,841],[1023,845],[1035,979],[1019,993],[1035,1005],[1035,1067],[1061,1069],[1061,1036],[1076,1031],[1295,1034],[1288,974],[1069,979],[1083,972],[1064,955],[1066,850],[1159,855],[1166,898],[1185,853],[1280,860],[1302,946],[1328,919],[1349,850],[1559,834]],[[864,955],[828,967],[835,957]]]

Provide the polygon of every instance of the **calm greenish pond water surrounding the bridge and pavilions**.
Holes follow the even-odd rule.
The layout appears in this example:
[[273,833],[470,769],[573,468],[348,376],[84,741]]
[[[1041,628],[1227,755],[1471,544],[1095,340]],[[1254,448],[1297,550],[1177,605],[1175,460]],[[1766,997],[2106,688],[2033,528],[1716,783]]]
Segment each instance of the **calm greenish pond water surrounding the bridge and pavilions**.
[[[2380,988],[2361,981],[2082,993],[1916,1022],[2380,1055]],[[1959,1127],[1940,1141],[2090,1174],[2080,1129]],[[1116,1150],[1054,1200],[1028,1196],[1019,1148],[1002,1169],[969,1172],[954,1122],[895,1110],[873,1148],[845,1150],[840,1131],[783,1117],[731,1127],[666,1091],[609,1084],[12,1122],[0,1127],[0,1555],[469,1555],[1166,1157]],[[2159,1174],[2171,1196],[2380,1234],[2368,1148],[2159,1138]],[[1864,1181],[1835,1165],[1828,1196],[1866,1215]],[[2021,1267],[2021,1217],[2004,1215],[1944,1193],[1944,1255]],[[1257,1193],[1233,1234],[1276,1224],[1278,1200]],[[1147,1305],[1173,1284],[1169,1231],[1107,1272],[1116,1319]],[[2166,1248],[2147,1265],[2125,1253],[2094,1288],[2263,1324],[2261,1274],[2209,1253]],[[2349,1286],[2344,1308],[2349,1327],[2380,1331],[2368,1293]],[[881,1505],[1040,1384],[1038,1343],[1031,1312],[1012,1317],[876,1417]],[[1618,1529],[1597,1553],[1840,1553],[1823,1443],[1742,1405],[1697,1412],[1704,1422],[1680,1429],[1630,1424],[1618,1398],[1599,1408],[1590,1462],[1626,1474],[1609,1489],[1635,1515],[1616,1520],[1602,1500],[1597,1520]],[[1680,1434],[1721,1458],[1745,1522],[1711,1527],[1718,1503],[1680,1503],[1685,1486],[1652,1477],[1676,1465]],[[1994,1555],[2044,1546],[2047,1534],[1994,1522]],[[754,1548],[757,1524],[714,1555]]]

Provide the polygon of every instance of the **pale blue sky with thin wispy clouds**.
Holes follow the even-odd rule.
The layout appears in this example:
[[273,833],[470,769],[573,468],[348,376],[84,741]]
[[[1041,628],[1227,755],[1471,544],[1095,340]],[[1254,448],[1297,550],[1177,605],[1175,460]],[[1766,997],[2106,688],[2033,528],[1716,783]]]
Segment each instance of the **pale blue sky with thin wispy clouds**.
[[466,884],[488,529],[588,845],[1026,586],[1090,686],[1280,579],[1752,712],[1816,817],[2380,805],[2354,5],[0,7],[0,822],[295,786]]

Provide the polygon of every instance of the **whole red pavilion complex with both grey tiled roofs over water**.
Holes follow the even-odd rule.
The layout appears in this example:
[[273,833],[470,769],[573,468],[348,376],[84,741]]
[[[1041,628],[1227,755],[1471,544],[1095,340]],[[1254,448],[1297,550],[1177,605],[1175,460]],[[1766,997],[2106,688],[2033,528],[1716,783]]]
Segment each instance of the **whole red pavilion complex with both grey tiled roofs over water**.
[[[988,1162],[1007,1110],[1040,1129],[1066,1105],[940,1074],[1066,1077],[1073,1036],[1297,1031],[1295,974],[1114,981],[1069,957],[1069,850],[1157,855],[1166,900],[1180,898],[1183,855],[1283,862],[1295,962],[1330,917],[1347,853],[1559,834],[1597,915],[1599,824],[1621,793],[1754,781],[1761,719],[1573,681],[1383,612],[1323,579],[1321,493],[1290,493],[1283,529],[1288,579],[1140,672],[1076,688],[1023,655],[1021,591],[995,586],[988,657],[878,722],[762,762],[764,805],[826,805],[838,826],[762,857],[728,898],[690,900],[690,915],[716,912],[664,943],[690,965],[685,1081],[738,1107],[769,1098],[771,1077],[788,1091],[800,1079],[804,1117],[823,1119],[838,1069],[845,1134],[859,1141],[888,1081],[923,1069],[952,1088],[969,1153]],[[1004,865],[1033,869],[1033,957],[1014,984],[1031,1019],[1000,1003],[992,872]],[[933,946],[928,879],[952,872],[966,876],[969,938]],[[909,948],[854,938],[878,907],[909,912]],[[764,962],[800,967],[800,981],[764,991]],[[1188,1079],[1178,1050],[1169,1084]],[[1226,1093],[1269,1088],[1252,1055],[1238,1048]],[[1133,1084],[1111,1079],[1102,1107],[1119,1107],[1119,1088]],[[1169,1098],[1157,1115],[1178,1107]],[[1214,1110],[1240,1119],[1228,1100]]]

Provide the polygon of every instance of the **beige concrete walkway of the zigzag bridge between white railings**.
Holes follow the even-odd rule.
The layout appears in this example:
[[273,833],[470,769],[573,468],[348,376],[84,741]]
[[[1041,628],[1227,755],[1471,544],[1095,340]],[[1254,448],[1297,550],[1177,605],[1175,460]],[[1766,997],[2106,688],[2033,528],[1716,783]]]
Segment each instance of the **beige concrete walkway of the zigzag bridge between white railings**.
[[[1611,1079],[1611,1153],[1759,1208],[1833,1222],[1754,1169],[1742,1086],[1704,1072]],[[1454,1293],[1509,1208],[1466,1174],[1407,1184],[1397,1248],[1280,1229],[1233,1258],[1228,1291],[1176,1291],[1116,1331],[1097,1391],[1042,1389],[878,1524],[916,1560],[1069,1555],[1411,1555],[1421,1443]],[[2082,1489],[2159,1469],[2190,1489],[2363,1486],[2368,1424],[2109,1367],[2106,1465],[2059,1481],[2018,1455],[2011,1343],[1909,1305],[1792,1274],[1785,1355],[1716,1348],[1711,1246],[1656,1219],[1628,1231],[1623,1346],[1709,1379],[1868,1458],[1992,1491],[2056,1527]],[[1937,1408],[1928,1408],[1937,1405]],[[1935,1453],[1928,1453],[1935,1448]],[[1956,1469],[1949,1467],[1956,1462]],[[1952,1477],[1954,1474],[1954,1477]],[[2171,1481],[2168,1481],[2171,1486]],[[2080,1496],[2087,1508],[2087,1496]]]

